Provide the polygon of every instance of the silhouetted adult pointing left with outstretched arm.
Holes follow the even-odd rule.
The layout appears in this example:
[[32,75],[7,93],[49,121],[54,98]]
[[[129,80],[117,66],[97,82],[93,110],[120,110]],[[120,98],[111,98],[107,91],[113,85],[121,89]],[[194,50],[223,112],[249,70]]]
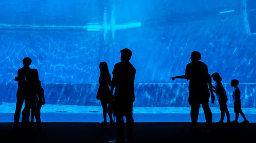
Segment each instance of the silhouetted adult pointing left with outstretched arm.
[[212,92],[211,77],[208,74],[207,66],[203,62],[199,61],[201,60],[201,54],[198,51],[193,51],[190,56],[191,63],[187,64],[185,75],[176,76],[172,79],[174,80],[175,78],[185,78],[189,80],[188,103],[191,106],[191,130],[196,131],[199,108],[200,104],[202,104],[206,119],[207,132],[210,133],[212,132],[212,115],[208,105],[210,93],[212,103],[214,103],[215,100],[215,96]]

